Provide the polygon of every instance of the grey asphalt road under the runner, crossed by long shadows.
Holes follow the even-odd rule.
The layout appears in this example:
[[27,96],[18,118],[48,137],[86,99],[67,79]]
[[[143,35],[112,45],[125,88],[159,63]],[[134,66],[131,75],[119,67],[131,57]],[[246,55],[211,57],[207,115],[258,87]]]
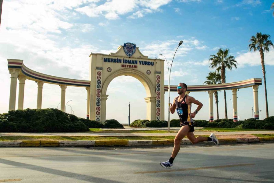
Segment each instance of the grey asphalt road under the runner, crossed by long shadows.
[[274,143],[172,148],[0,148],[0,181],[274,183]]

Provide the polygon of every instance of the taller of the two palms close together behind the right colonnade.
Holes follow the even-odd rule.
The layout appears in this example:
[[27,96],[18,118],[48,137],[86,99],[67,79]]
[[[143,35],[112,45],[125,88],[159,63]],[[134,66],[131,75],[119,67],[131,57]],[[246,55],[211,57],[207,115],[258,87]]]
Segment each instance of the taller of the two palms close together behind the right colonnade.
[[[216,68],[218,73],[221,73],[221,80],[222,83],[226,83],[226,69],[232,70],[233,67],[237,68],[237,61],[235,60],[234,56],[228,55],[229,49],[222,49],[219,48],[216,55],[211,55],[209,61],[210,67],[212,69]],[[227,96],[226,91],[224,93],[224,100],[225,100],[225,118],[227,118]]]

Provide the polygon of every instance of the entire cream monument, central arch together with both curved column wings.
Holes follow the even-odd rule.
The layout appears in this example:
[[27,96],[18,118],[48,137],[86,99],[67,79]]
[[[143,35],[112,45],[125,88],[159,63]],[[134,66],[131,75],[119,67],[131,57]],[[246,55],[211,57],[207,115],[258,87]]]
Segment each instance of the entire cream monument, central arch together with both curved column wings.
[[[106,120],[106,95],[110,82],[118,76],[132,76],[138,79],[146,89],[146,119],[164,120],[164,93],[168,85],[164,85],[164,61],[149,59],[144,56],[135,44],[125,43],[118,47],[116,53],[90,54],[89,80],[76,80],[42,74],[27,68],[23,60],[8,59],[11,74],[9,110],[15,110],[16,88],[19,80],[18,109],[23,109],[24,88],[26,79],[37,82],[37,109],[42,108],[43,84],[58,84],[61,87],[61,110],[65,111],[65,93],[67,86],[85,87],[87,90],[87,119]],[[181,82],[181,81],[178,81]],[[233,83],[188,86],[189,92],[207,91],[209,94],[209,121],[213,121],[213,91],[231,90],[233,94],[234,121],[238,120],[237,91],[240,88],[253,88],[254,118],[259,119],[258,87],[262,79],[251,78]],[[177,86],[170,86],[170,91],[177,92]],[[168,109],[167,109],[168,110]]]

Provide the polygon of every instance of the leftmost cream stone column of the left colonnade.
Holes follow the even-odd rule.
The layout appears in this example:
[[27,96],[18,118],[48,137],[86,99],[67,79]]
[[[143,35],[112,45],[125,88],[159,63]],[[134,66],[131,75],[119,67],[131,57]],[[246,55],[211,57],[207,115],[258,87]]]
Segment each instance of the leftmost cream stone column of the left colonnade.
[[15,110],[16,102],[16,88],[17,88],[17,78],[19,75],[19,69],[9,69],[10,77],[10,90],[9,90],[9,111]]

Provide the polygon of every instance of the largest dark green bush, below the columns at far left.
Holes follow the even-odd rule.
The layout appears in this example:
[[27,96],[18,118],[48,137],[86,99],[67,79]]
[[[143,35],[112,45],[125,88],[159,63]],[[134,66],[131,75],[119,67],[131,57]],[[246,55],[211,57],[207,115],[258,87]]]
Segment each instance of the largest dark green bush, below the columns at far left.
[[12,110],[0,114],[0,132],[89,131],[78,117],[58,109]]

